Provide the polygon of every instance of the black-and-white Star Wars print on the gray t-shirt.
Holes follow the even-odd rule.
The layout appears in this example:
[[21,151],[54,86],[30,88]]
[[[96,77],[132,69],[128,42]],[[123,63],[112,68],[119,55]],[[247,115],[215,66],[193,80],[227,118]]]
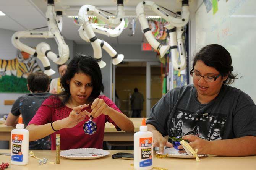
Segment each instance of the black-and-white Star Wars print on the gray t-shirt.
[[193,113],[178,109],[169,130],[169,142],[172,137],[192,134],[208,141],[223,138],[227,115],[216,113]]

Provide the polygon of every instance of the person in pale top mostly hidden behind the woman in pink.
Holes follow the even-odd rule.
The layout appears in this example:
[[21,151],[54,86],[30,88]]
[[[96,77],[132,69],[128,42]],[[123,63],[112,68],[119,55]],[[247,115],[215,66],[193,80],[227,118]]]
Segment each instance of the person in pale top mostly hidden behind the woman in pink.
[[[66,68],[67,68],[66,64],[58,65],[58,72],[60,74],[60,77],[63,76],[63,74],[65,74]],[[60,77],[52,79],[50,83],[50,90],[49,90],[50,93],[57,94],[62,92],[62,88],[60,87]]]

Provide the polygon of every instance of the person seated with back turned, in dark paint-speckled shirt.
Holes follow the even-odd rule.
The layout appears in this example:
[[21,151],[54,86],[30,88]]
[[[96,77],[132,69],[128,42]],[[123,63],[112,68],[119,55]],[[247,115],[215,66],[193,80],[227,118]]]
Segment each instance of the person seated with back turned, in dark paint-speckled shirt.
[[[50,79],[46,74],[41,72],[31,73],[29,74],[27,81],[27,87],[30,94],[20,96],[14,102],[11,112],[6,119],[7,126],[16,126],[19,116],[22,115],[24,126],[26,127],[36,114],[36,111],[41,106],[42,102],[51,95],[47,92]],[[29,142],[29,149],[50,149],[50,146],[50,136],[45,136],[42,139]]]

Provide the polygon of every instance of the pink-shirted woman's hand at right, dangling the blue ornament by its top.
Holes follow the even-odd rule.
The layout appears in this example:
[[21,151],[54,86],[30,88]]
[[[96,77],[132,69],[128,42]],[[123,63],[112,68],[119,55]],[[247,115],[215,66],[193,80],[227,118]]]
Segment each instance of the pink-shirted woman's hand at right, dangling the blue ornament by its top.
[[91,106],[92,112],[88,115],[91,118],[96,118],[101,114],[108,115],[111,108],[105,103],[103,99],[96,98],[92,102]]

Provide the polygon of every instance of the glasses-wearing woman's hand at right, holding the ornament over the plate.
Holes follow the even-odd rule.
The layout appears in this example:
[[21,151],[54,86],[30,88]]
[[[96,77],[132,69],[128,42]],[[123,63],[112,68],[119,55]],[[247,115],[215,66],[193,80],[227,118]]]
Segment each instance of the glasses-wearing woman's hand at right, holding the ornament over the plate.
[[[194,135],[186,135],[182,137],[183,140],[188,140],[189,145],[195,150],[198,149],[198,155],[209,154],[211,152],[211,142],[206,141]],[[182,145],[178,146],[178,149],[183,149]],[[185,150],[179,151],[180,154],[186,153]]]

